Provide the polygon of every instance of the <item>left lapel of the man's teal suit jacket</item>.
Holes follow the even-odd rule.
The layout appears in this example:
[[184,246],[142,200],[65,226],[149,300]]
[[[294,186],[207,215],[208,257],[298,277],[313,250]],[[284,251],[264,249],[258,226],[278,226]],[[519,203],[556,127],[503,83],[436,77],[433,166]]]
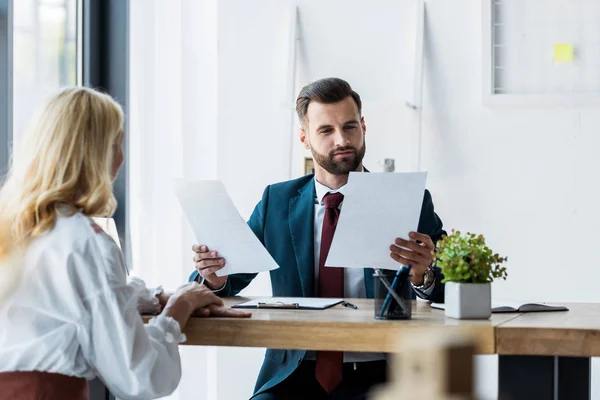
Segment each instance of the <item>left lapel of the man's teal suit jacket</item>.
[[298,196],[290,199],[289,224],[292,245],[302,295],[314,296],[315,262],[314,262],[314,218],[315,218],[315,181],[311,179],[298,190]]

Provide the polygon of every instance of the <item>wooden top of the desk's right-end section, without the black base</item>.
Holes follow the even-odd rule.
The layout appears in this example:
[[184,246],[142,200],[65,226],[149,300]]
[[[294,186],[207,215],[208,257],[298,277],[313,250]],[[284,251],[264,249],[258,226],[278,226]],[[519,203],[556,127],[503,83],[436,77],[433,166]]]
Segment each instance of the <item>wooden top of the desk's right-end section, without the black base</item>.
[[518,314],[496,329],[505,355],[600,356],[600,304],[569,303],[569,311]]

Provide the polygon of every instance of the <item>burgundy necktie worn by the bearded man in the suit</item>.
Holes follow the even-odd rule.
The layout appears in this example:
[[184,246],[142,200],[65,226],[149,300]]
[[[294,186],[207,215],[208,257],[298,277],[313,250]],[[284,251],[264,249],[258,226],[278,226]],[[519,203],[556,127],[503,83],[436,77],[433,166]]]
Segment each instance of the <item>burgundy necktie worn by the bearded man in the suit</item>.
[[[321,234],[321,254],[319,257],[319,296],[344,297],[344,269],[325,267],[325,260],[331,247],[333,233],[340,215],[339,205],[344,200],[341,193],[327,193],[323,197],[325,218]],[[344,353],[339,351],[317,352],[316,377],[327,393],[331,393],[342,381]]]

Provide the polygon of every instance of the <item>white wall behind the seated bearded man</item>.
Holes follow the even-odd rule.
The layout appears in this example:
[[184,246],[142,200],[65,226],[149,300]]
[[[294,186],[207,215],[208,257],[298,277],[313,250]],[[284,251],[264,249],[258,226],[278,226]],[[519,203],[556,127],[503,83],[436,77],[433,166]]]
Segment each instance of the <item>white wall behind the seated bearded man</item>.
[[[182,1],[184,8],[191,3]],[[397,170],[415,168],[417,114],[404,106],[412,74],[407,61],[412,57],[411,1],[208,3],[209,10],[198,15],[188,8],[182,27],[184,93],[190,99],[195,91],[211,93],[201,96],[202,107],[184,101],[191,113],[189,129],[212,132],[192,147],[198,160],[208,161],[195,161],[190,168],[204,174],[206,167],[222,179],[244,217],[265,185],[290,178],[290,165],[293,176],[301,174],[306,154],[290,126],[294,99],[286,97],[292,4],[299,5],[301,28],[295,93],[314,79],[346,78],[365,102],[367,167],[381,170],[379,160],[394,158]],[[215,13],[218,50],[214,41],[198,45],[204,34],[193,26],[194,18]],[[420,155],[437,211],[447,228],[483,233],[493,249],[508,256],[509,280],[494,284],[495,295],[600,301],[592,253],[600,218],[594,207],[600,200],[594,179],[600,114],[597,108],[483,106],[481,26],[481,1],[427,0]],[[194,49],[200,53],[190,56]],[[203,65],[196,75],[194,63]],[[185,127],[185,118],[182,123]],[[270,294],[268,275],[247,293]],[[211,349],[198,357],[187,351],[181,398],[249,397],[261,349]],[[190,380],[195,363],[216,379],[203,380],[206,391]],[[216,373],[210,372],[215,364]],[[480,357],[478,366],[478,393],[493,397],[496,358]]]

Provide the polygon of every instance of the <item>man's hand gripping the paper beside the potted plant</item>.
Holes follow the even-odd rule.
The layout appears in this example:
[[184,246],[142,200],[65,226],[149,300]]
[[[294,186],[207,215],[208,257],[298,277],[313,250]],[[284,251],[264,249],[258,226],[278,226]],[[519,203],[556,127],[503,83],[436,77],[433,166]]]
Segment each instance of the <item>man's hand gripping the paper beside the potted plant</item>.
[[402,265],[412,266],[412,283],[420,286],[423,284],[423,275],[435,258],[435,246],[431,238],[418,232],[410,232],[411,240],[397,238],[390,246],[390,256]]

